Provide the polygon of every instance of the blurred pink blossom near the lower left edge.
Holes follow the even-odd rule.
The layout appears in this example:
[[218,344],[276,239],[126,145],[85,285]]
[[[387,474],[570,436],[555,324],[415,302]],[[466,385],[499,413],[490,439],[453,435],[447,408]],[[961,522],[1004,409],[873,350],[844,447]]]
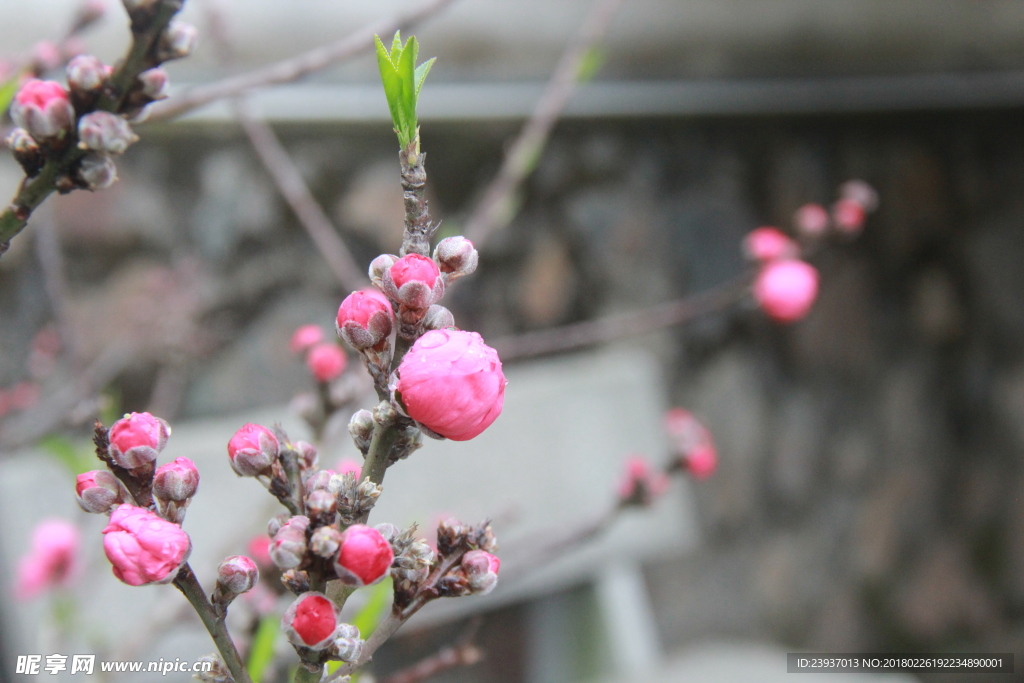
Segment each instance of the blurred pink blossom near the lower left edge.
[[49,588],[67,586],[79,564],[78,527],[66,519],[44,519],[32,532],[32,546],[18,560],[15,595],[28,600]]

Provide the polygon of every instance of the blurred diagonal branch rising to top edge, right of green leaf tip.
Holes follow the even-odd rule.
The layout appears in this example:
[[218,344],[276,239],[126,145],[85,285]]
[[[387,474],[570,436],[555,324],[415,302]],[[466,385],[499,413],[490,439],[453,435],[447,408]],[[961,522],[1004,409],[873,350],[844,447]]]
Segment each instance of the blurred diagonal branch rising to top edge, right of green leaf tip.
[[562,53],[534,114],[509,147],[498,175],[466,221],[464,232],[478,248],[512,220],[516,190],[537,167],[548,137],[575,89],[581,69],[608,32],[611,17],[624,1],[595,0],[580,32]]

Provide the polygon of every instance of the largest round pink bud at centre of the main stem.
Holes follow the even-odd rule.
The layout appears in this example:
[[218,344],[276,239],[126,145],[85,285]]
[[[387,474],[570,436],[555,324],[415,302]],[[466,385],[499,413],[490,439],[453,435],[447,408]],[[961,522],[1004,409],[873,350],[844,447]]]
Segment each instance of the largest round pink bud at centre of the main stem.
[[394,397],[409,417],[454,441],[473,438],[498,419],[505,375],[498,352],[475,332],[432,330],[402,358]]

